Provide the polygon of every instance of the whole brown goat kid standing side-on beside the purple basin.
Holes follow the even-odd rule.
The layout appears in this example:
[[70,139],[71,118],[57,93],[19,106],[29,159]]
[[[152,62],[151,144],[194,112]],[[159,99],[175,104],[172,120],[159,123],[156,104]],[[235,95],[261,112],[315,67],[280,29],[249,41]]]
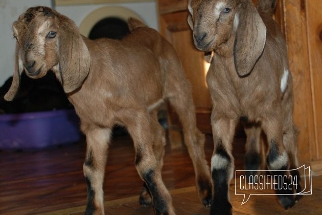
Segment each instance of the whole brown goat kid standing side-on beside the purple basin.
[[90,40],[55,10],[29,8],[13,23],[16,68],[5,99],[14,98],[22,71],[32,78],[54,71],[86,135],[86,214],[104,214],[102,185],[114,124],[126,126],[134,142],[135,167],[146,183],[140,203],[153,202],[156,214],[175,213],[161,178],[166,140],[157,121],[157,107],[169,100],[182,122],[199,197],[210,205],[212,184],[204,135],[196,127],[190,84],[178,56],[169,42],[139,20],[129,19],[129,28],[132,32],[122,40]]

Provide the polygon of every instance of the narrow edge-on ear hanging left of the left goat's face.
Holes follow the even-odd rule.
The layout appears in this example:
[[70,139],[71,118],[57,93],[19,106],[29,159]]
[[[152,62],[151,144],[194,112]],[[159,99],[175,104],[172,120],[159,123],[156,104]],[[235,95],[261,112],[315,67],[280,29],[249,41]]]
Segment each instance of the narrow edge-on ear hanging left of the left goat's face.
[[[20,64],[19,64],[19,61],[21,62]],[[19,51],[18,42],[16,42],[15,68],[14,68],[14,73],[13,73],[13,79],[12,79],[12,83],[11,83],[11,87],[10,87],[9,91],[4,96],[5,100],[12,101],[14,99],[14,97],[16,96],[16,94],[19,90],[20,74],[21,74],[22,70],[24,70],[24,67],[22,66],[22,60],[21,60],[21,54]]]

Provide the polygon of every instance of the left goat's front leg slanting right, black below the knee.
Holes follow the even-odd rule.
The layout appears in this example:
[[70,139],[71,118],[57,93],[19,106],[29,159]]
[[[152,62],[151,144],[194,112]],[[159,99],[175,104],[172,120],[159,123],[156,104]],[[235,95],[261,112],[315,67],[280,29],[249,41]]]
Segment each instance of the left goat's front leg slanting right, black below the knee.
[[135,148],[135,167],[146,183],[156,214],[175,214],[169,191],[161,177],[161,167],[153,153],[153,132],[147,112],[133,111],[124,122]]

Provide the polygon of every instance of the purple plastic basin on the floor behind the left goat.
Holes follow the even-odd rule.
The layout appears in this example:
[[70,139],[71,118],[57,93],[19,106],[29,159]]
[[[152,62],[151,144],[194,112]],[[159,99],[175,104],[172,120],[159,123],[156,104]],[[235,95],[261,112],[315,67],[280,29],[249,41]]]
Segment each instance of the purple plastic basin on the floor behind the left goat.
[[0,115],[0,149],[32,149],[80,140],[74,110]]

